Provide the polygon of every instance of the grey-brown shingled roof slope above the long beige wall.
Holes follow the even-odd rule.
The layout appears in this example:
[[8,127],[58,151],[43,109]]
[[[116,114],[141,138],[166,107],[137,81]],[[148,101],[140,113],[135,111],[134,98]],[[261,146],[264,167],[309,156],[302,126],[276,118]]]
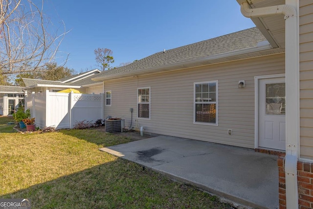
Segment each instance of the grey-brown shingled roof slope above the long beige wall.
[[183,61],[209,57],[230,51],[236,51],[258,46],[258,43],[266,41],[257,27],[227,34],[217,38],[201,41],[195,44],[180,46],[145,57],[127,66],[117,69],[105,70],[97,76],[123,74],[134,70],[143,70],[159,66],[166,66]]

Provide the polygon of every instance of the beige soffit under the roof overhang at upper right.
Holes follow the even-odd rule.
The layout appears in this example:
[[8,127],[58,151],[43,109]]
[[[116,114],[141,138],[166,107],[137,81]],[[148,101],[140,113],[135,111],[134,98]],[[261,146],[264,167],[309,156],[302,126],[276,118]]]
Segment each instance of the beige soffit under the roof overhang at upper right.
[[[248,2],[250,8],[252,9],[285,4],[285,0],[237,0],[237,2],[239,4]],[[273,48],[285,48],[285,39],[282,37],[285,33],[285,21],[283,15],[251,18],[251,20]]]

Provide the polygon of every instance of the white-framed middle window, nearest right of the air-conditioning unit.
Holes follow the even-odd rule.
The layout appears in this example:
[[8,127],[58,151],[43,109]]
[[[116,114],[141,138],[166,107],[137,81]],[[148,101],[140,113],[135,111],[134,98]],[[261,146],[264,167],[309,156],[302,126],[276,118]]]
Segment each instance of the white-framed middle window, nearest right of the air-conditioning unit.
[[150,119],[150,87],[137,89],[138,118]]

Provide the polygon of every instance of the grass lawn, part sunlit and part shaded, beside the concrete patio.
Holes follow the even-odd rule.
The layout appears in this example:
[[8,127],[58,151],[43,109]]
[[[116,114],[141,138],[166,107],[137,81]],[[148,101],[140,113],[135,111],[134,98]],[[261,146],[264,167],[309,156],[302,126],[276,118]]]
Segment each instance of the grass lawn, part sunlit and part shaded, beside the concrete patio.
[[[0,124],[7,118],[0,117]],[[94,130],[20,134],[0,125],[0,198],[33,209],[230,209],[218,198],[98,148],[130,139]]]

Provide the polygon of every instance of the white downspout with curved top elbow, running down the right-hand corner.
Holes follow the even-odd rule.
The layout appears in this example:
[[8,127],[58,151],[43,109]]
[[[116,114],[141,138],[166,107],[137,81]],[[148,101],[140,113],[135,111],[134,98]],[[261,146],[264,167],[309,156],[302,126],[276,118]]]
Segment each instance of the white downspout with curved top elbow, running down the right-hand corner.
[[241,0],[241,13],[247,18],[269,15],[285,16],[286,42],[286,206],[298,208],[297,161],[300,140],[299,105],[299,28],[297,10],[298,0],[286,0],[286,4],[251,9],[246,0]]

